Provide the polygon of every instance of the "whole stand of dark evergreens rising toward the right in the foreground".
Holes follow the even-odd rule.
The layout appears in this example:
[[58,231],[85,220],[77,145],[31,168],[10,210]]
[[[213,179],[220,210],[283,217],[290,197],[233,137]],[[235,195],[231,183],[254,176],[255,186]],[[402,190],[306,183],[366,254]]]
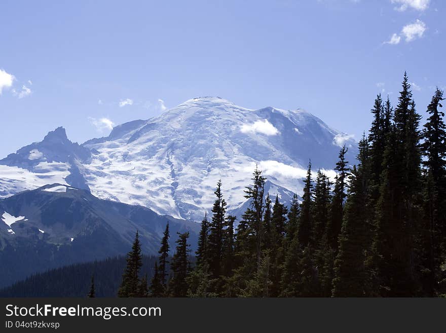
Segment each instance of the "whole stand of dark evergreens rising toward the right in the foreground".
[[446,127],[436,89],[420,129],[404,73],[395,107],[375,99],[357,164],[342,147],[330,180],[308,165],[301,200],[286,207],[265,193],[257,167],[236,226],[218,181],[198,249],[178,234],[169,257],[166,226],[155,273],[139,276],[138,234],[120,297],[444,297],[446,295]]

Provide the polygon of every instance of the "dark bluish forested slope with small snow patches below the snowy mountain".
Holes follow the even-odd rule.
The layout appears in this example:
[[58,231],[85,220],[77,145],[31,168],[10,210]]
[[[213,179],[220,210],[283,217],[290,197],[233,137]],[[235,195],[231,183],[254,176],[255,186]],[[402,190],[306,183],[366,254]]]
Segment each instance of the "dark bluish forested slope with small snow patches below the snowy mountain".
[[101,200],[87,190],[51,184],[0,200],[0,286],[49,268],[125,254],[136,231],[142,252],[157,254],[167,222],[171,247],[176,232],[184,231],[196,247],[198,224]]

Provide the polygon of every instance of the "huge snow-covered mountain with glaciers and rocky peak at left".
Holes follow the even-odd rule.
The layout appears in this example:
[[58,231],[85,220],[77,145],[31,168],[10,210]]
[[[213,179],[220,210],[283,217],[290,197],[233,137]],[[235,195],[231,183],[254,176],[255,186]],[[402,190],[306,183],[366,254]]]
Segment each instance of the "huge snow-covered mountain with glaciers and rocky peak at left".
[[305,110],[252,110],[219,97],[190,99],[82,145],[69,142],[63,131],[60,136],[69,142],[64,141],[63,154],[59,142],[48,139],[51,133],[0,161],[0,195],[41,186],[47,179],[76,182],[99,198],[200,220],[212,206],[218,179],[229,211],[239,214],[256,163],[268,178],[270,195],[288,202],[294,192],[302,193],[310,159],[314,171],[333,176],[340,147],[349,147],[350,162],[357,152],[351,136]]

